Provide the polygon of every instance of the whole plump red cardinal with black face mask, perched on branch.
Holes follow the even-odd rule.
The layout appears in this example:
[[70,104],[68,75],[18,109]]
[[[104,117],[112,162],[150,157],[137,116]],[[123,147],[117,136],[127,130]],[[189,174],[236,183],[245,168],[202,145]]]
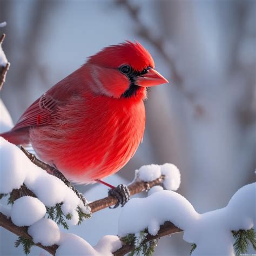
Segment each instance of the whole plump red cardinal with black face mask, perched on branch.
[[138,42],[111,45],[46,91],[0,134],[31,143],[39,158],[76,183],[119,171],[145,130],[146,87],[168,81]]

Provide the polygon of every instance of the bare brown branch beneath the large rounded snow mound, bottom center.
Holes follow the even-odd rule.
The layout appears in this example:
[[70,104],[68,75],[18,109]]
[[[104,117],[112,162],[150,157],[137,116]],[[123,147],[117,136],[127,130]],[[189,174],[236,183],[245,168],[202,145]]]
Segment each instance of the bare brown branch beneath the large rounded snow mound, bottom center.
[[[143,244],[145,244],[146,242],[152,241],[154,239],[164,237],[165,235],[170,235],[170,234],[174,234],[174,233],[178,233],[178,232],[183,232],[183,230],[181,230],[180,228],[173,225],[170,221],[166,221],[164,223],[164,225],[160,226],[160,229],[159,229],[157,235],[147,234],[147,237],[143,241]],[[116,252],[113,252],[113,254],[114,254],[114,256],[122,256],[126,253],[131,252],[132,250],[134,250],[134,248],[135,248],[134,245],[125,244],[125,245],[123,245],[123,247],[118,249]]]

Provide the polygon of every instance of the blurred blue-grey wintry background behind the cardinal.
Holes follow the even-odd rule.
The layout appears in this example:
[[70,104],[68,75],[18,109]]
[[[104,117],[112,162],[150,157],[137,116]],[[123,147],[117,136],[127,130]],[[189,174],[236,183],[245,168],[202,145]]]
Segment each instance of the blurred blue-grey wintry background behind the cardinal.
[[[256,1],[0,0],[4,21],[0,33],[6,33],[11,67],[1,98],[14,123],[87,56],[136,39],[170,84],[150,90],[143,144],[106,180],[129,183],[144,164],[176,164],[178,192],[199,213],[224,207],[254,181]],[[107,194],[102,185],[78,188],[89,200]],[[119,211],[96,213],[70,232],[95,245],[102,235],[117,234]],[[2,228],[0,234],[1,255],[22,255],[13,246],[15,235]],[[176,234],[161,238],[155,255],[189,252],[190,244]]]

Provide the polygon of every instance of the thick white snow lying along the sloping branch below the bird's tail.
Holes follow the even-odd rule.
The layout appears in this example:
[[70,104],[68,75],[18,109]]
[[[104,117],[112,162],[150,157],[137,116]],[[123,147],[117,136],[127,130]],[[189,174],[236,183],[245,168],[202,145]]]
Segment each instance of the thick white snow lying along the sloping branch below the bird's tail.
[[[33,164],[17,146],[0,137],[0,193],[9,193],[24,183],[45,206],[62,203],[63,213],[72,214],[69,224],[77,224],[77,206],[90,213],[82,201],[61,180]],[[33,211],[33,209],[31,209]]]

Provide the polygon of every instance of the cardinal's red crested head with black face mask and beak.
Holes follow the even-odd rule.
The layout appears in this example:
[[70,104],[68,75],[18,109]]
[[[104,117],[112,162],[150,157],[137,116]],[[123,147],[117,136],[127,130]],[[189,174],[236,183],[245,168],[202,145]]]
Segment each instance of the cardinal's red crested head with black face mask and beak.
[[114,98],[146,97],[146,87],[168,81],[154,70],[150,53],[138,42],[104,48],[89,58],[93,91]]

